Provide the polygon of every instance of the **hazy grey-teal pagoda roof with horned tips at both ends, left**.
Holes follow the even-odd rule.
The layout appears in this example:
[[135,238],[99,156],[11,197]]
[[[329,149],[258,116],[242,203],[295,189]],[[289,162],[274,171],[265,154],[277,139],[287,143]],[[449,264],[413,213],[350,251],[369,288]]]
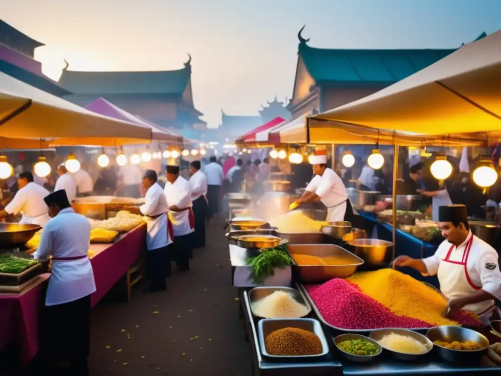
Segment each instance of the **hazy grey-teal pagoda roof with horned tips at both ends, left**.
[[80,95],[181,95],[191,76],[190,61],[184,63],[184,68],[174,71],[83,72],[69,71],[67,68],[68,63],[59,83],[64,88]]

